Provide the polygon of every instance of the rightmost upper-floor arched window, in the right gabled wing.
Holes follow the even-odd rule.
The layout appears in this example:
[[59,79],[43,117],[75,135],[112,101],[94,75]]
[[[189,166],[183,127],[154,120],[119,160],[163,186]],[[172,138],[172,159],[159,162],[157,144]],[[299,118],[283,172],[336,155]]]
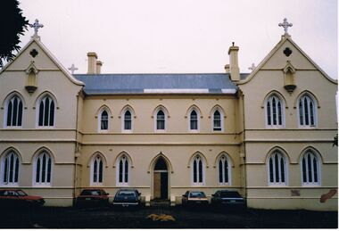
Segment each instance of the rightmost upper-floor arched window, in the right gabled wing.
[[316,104],[309,95],[303,95],[299,99],[299,124],[300,126],[316,126],[317,111]]

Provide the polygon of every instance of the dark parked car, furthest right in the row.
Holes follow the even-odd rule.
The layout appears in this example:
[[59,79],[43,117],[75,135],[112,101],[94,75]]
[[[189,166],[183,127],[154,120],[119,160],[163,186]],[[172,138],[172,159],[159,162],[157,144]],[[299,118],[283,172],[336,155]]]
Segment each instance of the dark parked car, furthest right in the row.
[[211,195],[211,205],[214,207],[244,209],[246,207],[246,202],[236,191],[219,190]]

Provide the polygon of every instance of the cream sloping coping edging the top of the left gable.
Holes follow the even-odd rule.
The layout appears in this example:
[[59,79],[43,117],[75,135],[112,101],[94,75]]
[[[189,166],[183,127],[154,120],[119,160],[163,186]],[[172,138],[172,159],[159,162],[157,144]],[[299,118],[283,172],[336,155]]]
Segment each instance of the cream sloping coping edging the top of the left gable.
[[29,47],[29,45],[31,45],[32,43],[36,43],[37,46],[38,46],[39,48],[41,48],[41,50],[43,50],[43,51],[45,52],[45,54],[48,56],[48,58],[50,58],[51,61],[54,62],[54,64],[59,68],[59,70],[61,70],[62,73],[63,73],[67,78],[69,78],[70,81],[71,81],[72,83],[74,83],[74,84],[76,84],[76,85],[79,85],[79,86],[83,86],[83,85],[84,85],[84,83],[82,83],[82,82],[80,82],[78,79],[74,78],[74,77],[70,74],[70,72],[69,72],[68,70],[66,70],[66,69],[62,66],[61,62],[59,62],[59,61],[54,57],[54,55],[53,55],[53,54],[45,47],[45,45],[40,41],[40,37],[37,37],[37,36],[33,36],[33,37],[30,39],[29,43],[28,43],[27,45],[25,45],[25,46],[21,49],[21,51],[15,56],[15,58],[12,60],[12,62],[8,62],[8,63],[4,66],[4,68],[3,68],[2,70],[0,70],[0,74],[3,73],[4,70],[8,69],[8,68],[11,66],[11,64],[12,64],[13,62],[15,62],[15,60],[16,60],[23,52],[25,52],[25,50],[26,50],[26,49]]

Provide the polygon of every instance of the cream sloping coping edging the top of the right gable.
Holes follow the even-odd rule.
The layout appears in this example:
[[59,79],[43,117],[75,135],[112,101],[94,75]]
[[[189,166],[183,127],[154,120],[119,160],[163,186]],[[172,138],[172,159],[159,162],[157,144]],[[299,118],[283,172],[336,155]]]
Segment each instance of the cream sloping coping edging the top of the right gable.
[[320,72],[321,72],[321,74],[323,74],[323,76],[325,77],[325,78],[327,78],[330,82],[332,82],[332,83],[334,83],[334,84],[338,84],[338,81],[337,80],[335,80],[335,79],[333,79],[333,78],[330,78],[328,75],[327,75],[327,73],[324,71],[324,70],[322,70],[318,65],[317,65],[317,63],[316,62],[314,62],[314,61],[312,61],[311,59],[310,59],[310,57],[309,57],[309,55],[307,55],[306,53],[304,53],[303,51],[302,51],[302,48],[300,48],[298,45],[296,45],[295,43],[294,43],[294,40],[292,40],[292,38],[289,36],[289,35],[284,35],[284,36],[282,36],[282,38],[281,38],[281,40],[277,43],[277,45],[270,51],[270,53],[259,63],[259,65],[258,65],[258,67],[256,67],[253,71],[252,71],[252,73],[247,77],[247,78],[245,78],[245,79],[241,79],[237,84],[238,85],[241,85],[241,84],[245,84],[245,83],[247,83],[247,82],[249,82],[252,78],[253,78],[253,76],[255,76],[256,75],[256,73],[259,71],[259,70],[261,70],[261,68],[267,63],[267,62],[269,62],[269,59],[274,55],[274,54],[276,54],[277,53],[277,50],[282,46],[282,45],[284,45],[285,44],[285,41],[289,41],[292,45],[294,45],[295,46],[295,48],[317,69],[317,70],[319,70]]

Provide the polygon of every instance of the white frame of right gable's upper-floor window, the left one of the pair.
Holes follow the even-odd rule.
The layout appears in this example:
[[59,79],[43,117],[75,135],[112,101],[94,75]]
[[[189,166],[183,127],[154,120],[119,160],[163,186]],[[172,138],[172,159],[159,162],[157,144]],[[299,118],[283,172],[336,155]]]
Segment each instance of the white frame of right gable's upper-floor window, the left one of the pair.
[[[274,113],[273,113],[273,99],[277,101],[276,104],[280,103],[281,107],[281,124],[278,124],[279,122],[279,114],[278,114],[278,107],[276,108],[276,120],[277,124],[273,124],[274,120]],[[268,109],[268,103],[270,105],[270,122],[269,124],[269,109]],[[281,99],[278,95],[269,95],[267,100],[265,101],[265,122],[266,122],[266,128],[285,128],[285,103],[284,100]]]

